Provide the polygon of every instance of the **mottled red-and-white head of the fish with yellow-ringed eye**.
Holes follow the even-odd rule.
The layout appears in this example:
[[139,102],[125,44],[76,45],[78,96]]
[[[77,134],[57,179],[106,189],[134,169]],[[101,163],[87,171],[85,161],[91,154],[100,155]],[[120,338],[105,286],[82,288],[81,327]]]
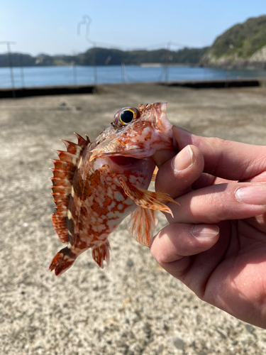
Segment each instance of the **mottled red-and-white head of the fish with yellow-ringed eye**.
[[148,158],[162,149],[176,150],[172,124],[166,116],[167,102],[124,107],[113,122],[94,141],[90,161],[94,158]]

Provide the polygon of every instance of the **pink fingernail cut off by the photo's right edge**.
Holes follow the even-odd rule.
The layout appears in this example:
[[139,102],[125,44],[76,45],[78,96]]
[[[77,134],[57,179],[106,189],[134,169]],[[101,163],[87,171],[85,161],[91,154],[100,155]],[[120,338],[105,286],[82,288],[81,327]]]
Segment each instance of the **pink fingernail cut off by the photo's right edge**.
[[235,192],[236,200],[245,204],[266,204],[266,186],[253,185],[241,187]]

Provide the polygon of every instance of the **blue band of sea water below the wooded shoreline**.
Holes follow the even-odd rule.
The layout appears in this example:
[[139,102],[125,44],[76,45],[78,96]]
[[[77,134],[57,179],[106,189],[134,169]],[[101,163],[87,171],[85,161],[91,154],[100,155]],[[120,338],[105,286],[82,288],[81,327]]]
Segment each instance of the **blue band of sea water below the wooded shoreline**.
[[73,84],[113,84],[121,82],[165,82],[266,78],[266,70],[222,70],[189,66],[51,66],[0,67],[0,87],[45,87]]

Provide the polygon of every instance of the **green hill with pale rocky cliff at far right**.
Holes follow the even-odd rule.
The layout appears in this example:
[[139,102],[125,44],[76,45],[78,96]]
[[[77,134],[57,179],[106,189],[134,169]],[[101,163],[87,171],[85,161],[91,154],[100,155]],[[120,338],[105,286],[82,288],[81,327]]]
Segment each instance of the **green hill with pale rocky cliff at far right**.
[[266,16],[248,18],[219,35],[201,58],[201,64],[266,68]]

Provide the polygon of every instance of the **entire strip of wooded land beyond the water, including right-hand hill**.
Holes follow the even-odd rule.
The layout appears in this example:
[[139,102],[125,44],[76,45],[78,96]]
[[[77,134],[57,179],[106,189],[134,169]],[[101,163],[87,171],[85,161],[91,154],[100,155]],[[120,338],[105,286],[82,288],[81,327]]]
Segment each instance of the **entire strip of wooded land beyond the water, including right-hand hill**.
[[[14,67],[48,65],[198,65],[225,69],[266,70],[266,16],[248,18],[214,40],[211,47],[180,50],[118,50],[90,48],[77,55],[32,56],[11,53]],[[9,66],[7,53],[0,55],[0,67]]]

